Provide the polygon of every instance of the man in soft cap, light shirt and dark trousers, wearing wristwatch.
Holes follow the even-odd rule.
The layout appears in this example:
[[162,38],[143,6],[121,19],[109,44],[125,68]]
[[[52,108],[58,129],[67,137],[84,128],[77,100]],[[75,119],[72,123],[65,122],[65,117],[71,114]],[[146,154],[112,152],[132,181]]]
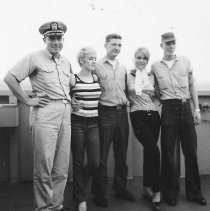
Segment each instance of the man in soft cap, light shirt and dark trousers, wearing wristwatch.
[[[163,59],[154,62],[151,74],[155,77],[156,90],[162,102],[161,113],[161,180],[162,194],[170,206],[177,204],[179,173],[174,159],[175,145],[179,137],[185,157],[185,189],[187,200],[199,205],[207,202],[201,193],[197,163],[197,136],[195,124],[201,116],[195,89],[193,69],[184,56],[176,56],[176,38],[167,32],[161,36]],[[190,106],[193,103],[193,114]]]

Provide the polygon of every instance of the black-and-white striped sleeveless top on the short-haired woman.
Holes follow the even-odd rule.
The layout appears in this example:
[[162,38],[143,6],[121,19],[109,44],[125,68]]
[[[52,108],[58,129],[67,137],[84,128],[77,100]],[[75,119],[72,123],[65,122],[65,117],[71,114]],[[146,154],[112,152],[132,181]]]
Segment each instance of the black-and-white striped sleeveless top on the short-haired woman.
[[92,83],[82,81],[76,74],[75,78],[76,84],[72,89],[72,93],[79,103],[83,103],[84,107],[79,111],[72,111],[72,113],[83,117],[98,116],[98,101],[101,88],[95,80],[96,77],[93,76]]

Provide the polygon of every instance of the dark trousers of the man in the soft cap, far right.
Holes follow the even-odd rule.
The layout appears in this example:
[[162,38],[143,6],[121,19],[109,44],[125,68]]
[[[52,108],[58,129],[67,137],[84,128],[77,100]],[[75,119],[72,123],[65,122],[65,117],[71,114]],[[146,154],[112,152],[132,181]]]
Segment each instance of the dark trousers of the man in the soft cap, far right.
[[185,158],[186,196],[201,196],[197,164],[197,137],[189,100],[166,100],[161,115],[162,193],[166,199],[176,199],[179,193],[179,172],[174,160],[174,148],[180,139]]

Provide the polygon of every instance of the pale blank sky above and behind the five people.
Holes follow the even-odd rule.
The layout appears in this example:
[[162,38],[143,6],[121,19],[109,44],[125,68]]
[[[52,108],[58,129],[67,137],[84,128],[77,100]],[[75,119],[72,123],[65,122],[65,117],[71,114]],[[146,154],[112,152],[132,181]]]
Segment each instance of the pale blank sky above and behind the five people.
[[[119,33],[123,45],[118,60],[133,68],[134,51],[146,46],[153,61],[162,58],[161,34],[172,31],[177,55],[187,56],[196,85],[210,90],[210,1],[209,0],[5,0],[0,3],[0,84],[6,72],[27,54],[44,49],[38,28],[49,20],[67,25],[64,55],[79,71],[80,48],[105,54],[104,38]],[[28,83],[27,81],[25,83]]]

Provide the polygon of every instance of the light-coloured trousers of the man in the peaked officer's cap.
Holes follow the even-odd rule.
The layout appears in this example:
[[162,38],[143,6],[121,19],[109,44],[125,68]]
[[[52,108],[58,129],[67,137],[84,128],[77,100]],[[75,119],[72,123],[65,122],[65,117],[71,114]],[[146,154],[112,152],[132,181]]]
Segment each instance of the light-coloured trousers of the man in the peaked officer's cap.
[[70,113],[70,104],[62,102],[50,102],[44,108],[31,111],[36,211],[55,211],[63,207],[69,169]]

